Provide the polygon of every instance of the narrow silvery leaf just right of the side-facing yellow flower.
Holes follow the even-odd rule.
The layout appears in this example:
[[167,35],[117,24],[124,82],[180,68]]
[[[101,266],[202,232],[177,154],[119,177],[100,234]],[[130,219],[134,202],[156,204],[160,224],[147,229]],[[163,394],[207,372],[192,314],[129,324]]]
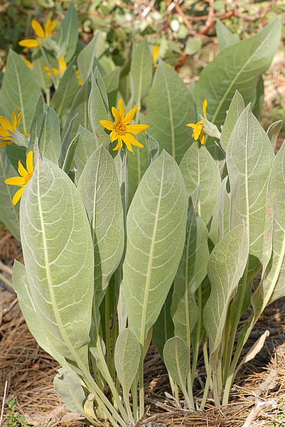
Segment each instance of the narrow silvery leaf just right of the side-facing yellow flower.
[[222,133],[220,137],[220,144],[222,149],[227,150],[227,143],[229,142],[230,135],[232,135],[232,130],[235,127],[237,119],[240,117],[244,110],[244,100],[240,92],[235,91],[235,95],[232,97],[230,102],[229,110],[227,111],[227,116],[225,117],[225,123],[222,125]]

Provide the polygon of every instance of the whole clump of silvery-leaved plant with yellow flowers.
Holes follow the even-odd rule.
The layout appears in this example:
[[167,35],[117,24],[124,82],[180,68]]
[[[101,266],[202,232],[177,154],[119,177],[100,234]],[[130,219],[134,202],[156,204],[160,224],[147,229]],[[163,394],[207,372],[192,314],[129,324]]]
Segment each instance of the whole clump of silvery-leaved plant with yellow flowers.
[[[7,142],[0,214],[23,247],[25,265],[15,261],[13,274],[21,310],[38,344],[61,365],[55,388],[94,425],[107,418],[129,426],[144,415],[151,339],[177,402],[179,386],[185,405],[197,404],[202,343],[200,408],[209,391],[217,405],[227,404],[250,331],[285,293],[285,147],[274,155],[279,123],[266,133],[252,113],[280,22],[235,41],[235,49],[218,34],[221,51],[190,91],[163,61],[154,70],[146,38],[134,48],[127,78],[102,55],[100,33],[76,56],[74,36],[64,37],[75,22],[73,7],[55,38],[67,68],[52,99],[14,52],[0,93],[4,115],[14,112],[12,124],[0,120]],[[39,45],[42,64],[47,53]],[[7,97],[16,73],[24,79]],[[196,107],[203,108],[198,122]]]

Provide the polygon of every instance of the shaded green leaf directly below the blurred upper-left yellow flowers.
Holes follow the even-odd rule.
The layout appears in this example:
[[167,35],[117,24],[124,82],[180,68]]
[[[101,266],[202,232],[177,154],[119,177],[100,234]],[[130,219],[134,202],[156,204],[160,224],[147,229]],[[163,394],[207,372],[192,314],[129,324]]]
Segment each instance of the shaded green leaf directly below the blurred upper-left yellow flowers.
[[68,64],[67,70],[65,70],[65,73],[60,78],[58,89],[55,90],[55,94],[50,102],[50,105],[58,113],[59,117],[63,117],[63,115],[70,111],[72,102],[79,89],[80,85],[78,84],[72,61]]

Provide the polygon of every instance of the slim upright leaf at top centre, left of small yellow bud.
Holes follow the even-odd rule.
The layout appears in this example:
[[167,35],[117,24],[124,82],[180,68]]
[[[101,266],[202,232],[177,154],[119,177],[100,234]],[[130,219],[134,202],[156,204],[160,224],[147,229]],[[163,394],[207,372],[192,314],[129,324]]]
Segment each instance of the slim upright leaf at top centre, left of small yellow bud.
[[152,80],[151,51],[146,36],[134,46],[131,77],[134,80],[134,103],[141,105],[141,99],[148,93]]

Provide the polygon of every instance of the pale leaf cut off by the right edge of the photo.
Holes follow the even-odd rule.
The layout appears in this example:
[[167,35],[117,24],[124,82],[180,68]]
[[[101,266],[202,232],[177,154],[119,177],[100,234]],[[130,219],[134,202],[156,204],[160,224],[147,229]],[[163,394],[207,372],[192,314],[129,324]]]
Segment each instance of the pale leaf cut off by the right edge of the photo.
[[252,295],[252,306],[257,314],[267,304],[285,295],[285,144],[274,159],[268,195],[271,201],[269,243],[272,251],[267,267],[264,265],[261,283]]

